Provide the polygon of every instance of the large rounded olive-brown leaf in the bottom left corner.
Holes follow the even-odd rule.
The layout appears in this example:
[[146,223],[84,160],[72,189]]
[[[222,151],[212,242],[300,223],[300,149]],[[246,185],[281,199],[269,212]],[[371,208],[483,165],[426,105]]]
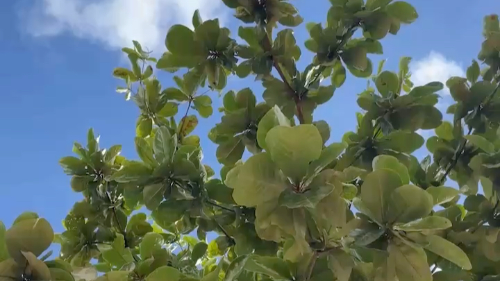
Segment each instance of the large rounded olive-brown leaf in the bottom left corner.
[[38,257],[51,246],[52,240],[53,230],[46,219],[19,221],[5,235],[8,253],[19,264],[25,262],[21,251],[31,252]]

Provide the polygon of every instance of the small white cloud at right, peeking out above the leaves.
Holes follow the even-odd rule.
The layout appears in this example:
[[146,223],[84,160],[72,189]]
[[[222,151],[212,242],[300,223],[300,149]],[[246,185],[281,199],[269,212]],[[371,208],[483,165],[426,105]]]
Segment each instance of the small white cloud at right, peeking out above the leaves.
[[[465,76],[462,66],[454,60],[445,58],[441,53],[431,51],[425,58],[416,60],[410,65],[411,80],[415,86],[425,85],[427,83],[438,81],[446,84],[451,76]],[[449,94],[445,86],[443,94]]]

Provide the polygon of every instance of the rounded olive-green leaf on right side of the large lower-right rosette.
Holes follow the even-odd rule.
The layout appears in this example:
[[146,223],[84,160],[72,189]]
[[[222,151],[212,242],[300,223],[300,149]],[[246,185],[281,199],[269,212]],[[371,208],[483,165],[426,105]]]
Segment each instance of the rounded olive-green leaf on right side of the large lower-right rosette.
[[403,185],[392,192],[387,217],[389,222],[408,223],[427,216],[433,206],[433,197],[424,189]]

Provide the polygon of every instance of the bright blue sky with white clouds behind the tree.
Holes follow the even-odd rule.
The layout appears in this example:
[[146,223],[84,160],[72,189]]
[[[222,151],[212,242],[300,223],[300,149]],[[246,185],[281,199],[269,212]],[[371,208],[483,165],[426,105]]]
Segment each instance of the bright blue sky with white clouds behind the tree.
[[[215,2],[215,3],[213,3]],[[484,15],[499,12],[497,0],[410,0],[419,19],[402,26],[397,36],[383,40],[385,69],[397,70],[401,56],[411,56],[413,80],[419,84],[446,81],[462,75],[481,46]],[[35,3],[35,4],[33,4]],[[306,22],[323,22],[327,0],[292,1]],[[139,40],[155,53],[165,51],[163,40],[170,25],[190,25],[199,8],[204,19],[220,17],[232,31],[240,22],[231,10],[214,0],[19,0],[6,1],[0,17],[0,220],[10,225],[23,211],[38,212],[56,231],[60,221],[81,196],[69,187],[69,177],[58,165],[72,155],[74,141],[85,142],[88,128],[101,135],[101,146],[122,144],[122,155],[135,158],[133,137],[138,109],[115,92],[120,81],[114,67],[126,65],[119,49]],[[233,33],[235,34],[235,33]],[[307,37],[305,26],[296,28],[298,42]],[[302,44],[301,44],[302,46]],[[301,66],[312,57],[303,49]],[[171,76],[158,74],[163,86],[173,86]],[[252,86],[253,85],[253,86]],[[348,76],[330,103],[322,105],[315,119],[331,124],[331,140],[338,141],[356,126],[356,95],[365,80]],[[260,85],[231,78],[227,90],[251,86],[260,96]],[[449,103],[442,92],[442,105]],[[213,94],[214,107],[220,100]],[[179,110],[183,112],[184,110]],[[216,171],[215,145],[206,137],[219,121],[200,120],[204,161]],[[424,133],[425,134],[425,133]]]

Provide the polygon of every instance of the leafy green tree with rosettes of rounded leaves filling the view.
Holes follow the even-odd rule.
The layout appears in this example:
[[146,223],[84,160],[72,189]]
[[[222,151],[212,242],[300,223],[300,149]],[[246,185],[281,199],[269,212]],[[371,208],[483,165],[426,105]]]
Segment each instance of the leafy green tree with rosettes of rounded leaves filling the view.
[[[303,19],[292,4],[223,1],[244,23],[243,44],[197,11],[194,29],[169,28],[160,59],[139,42],[123,49],[131,69],[113,75],[140,108],[140,160],[119,155],[119,145],[100,148],[89,130],[86,146],[75,143],[76,156],[60,160],[83,194],[65,232],[33,212],[8,230],[0,223],[0,280],[499,280],[497,15],[484,18],[467,77],[446,83],[456,102],[449,122],[435,108],[445,85],[414,87],[410,58],[397,72],[381,62],[372,76],[368,54],[417,19],[410,4],[331,0],[326,26],[306,24],[315,57],[302,70],[292,27]],[[162,87],[153,66],[184,72]],[[356,130],[328,142],[330,127],[313,112],[348,71],[374,87],[358,97]],[[207,93],[222,93],[228,75],[255,76],[264,101],[249,88],[225,92],[224,116],[208,135],[224,165],[216,178],[190,133],[213,114]],[[187,110],[178,114],[181,103]],[[417,130],[435,136],[425,142]],[[412,153],[424,143],[432,157],[419,161]],[[60,255],[48,260],[53,243]]]

